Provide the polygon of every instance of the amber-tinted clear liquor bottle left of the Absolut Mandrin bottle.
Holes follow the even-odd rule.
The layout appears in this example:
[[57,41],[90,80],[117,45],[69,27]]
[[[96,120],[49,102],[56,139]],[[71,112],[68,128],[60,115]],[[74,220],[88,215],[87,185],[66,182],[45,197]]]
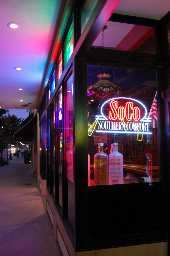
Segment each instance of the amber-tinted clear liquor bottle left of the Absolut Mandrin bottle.
[[98,143],[98,153],[94,155],[94,183],[95,185],[108,185],[108,155],[103,152],[104,143]]

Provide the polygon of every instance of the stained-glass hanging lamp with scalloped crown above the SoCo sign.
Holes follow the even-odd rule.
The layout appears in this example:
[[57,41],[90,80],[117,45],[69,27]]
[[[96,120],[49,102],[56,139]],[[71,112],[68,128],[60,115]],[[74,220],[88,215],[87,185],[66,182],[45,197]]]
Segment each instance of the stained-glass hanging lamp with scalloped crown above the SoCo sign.
[[121,95],[121,88],[109,80],[111,75],[104,73],[97,76],[98,82],[90,85],[87,89],[87,96],[91,100],[101,100],[104,96],[105,98],[114,98]]

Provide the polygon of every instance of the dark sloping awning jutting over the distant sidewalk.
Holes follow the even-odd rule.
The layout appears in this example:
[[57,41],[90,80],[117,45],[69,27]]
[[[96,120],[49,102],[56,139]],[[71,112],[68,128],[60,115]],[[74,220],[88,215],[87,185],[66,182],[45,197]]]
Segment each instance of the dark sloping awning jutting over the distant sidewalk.
[[15,141],[28,142],[33,138],[33,128],[37,122],[37,115],[35,115],[27,124],[14,133],[13,139]]

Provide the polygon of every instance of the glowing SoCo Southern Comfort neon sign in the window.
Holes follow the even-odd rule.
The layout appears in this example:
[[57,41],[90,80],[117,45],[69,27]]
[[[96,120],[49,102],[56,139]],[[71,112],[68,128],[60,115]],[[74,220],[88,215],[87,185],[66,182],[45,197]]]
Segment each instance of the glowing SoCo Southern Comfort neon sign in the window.
[[139,100],[113,98],[104,102],[100,112],[96,132],[151,134],[151,118],[146,117],[147,109]]

